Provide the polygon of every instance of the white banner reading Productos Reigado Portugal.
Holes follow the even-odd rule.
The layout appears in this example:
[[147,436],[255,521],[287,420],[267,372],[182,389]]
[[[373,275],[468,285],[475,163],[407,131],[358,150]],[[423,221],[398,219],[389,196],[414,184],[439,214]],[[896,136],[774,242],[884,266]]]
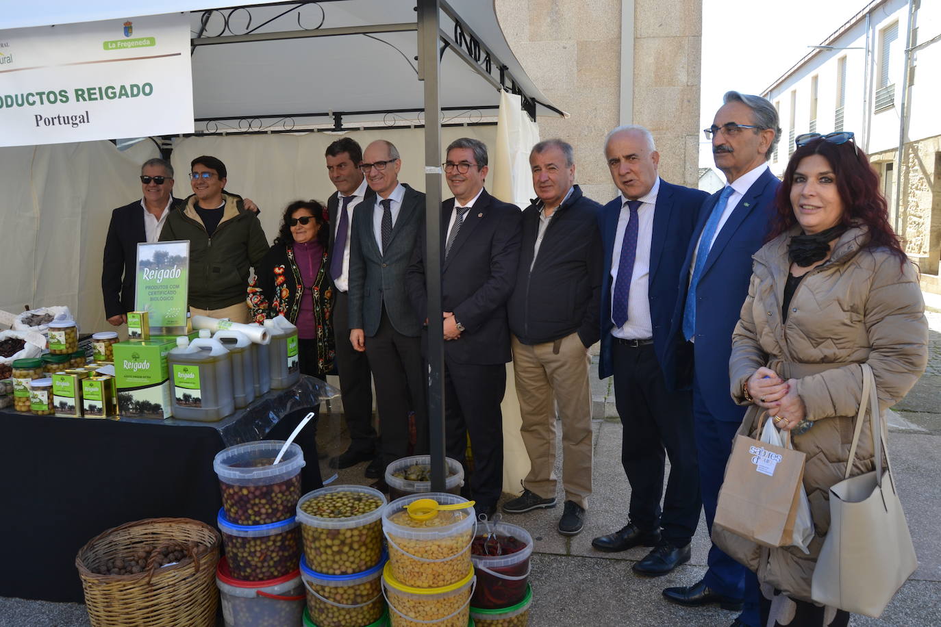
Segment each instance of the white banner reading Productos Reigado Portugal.
[[193,132],[189,15],[0,30],[0,146]]

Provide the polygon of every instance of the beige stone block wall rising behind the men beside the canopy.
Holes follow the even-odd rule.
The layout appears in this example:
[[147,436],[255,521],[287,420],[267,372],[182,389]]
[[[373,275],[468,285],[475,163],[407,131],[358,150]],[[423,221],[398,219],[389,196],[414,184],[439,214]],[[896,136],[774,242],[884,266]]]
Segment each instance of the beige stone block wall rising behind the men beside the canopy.
[[697,184],[701,0],[634,0],[633,119],[620,118],[623,0],[496,0],[523,69],[570,118],[539,118],[543,139],[575,149],[576,182],[606,202],[616,189],[604,136],[621,123],[654,134],[664,180]]

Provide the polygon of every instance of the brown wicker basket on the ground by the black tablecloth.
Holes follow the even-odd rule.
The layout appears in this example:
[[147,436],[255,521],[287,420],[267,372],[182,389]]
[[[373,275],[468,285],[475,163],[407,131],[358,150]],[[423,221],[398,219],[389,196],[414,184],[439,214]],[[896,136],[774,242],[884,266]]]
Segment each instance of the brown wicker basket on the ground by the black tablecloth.
[[[85,589],[92,627],[141,625],[215,626],[219,594],[215,566],[219,532],[188,518],[149,518],[108,529],[92,538],[75,556]],[[92,572],[108,559],[127,556],[145,546],[179,542],[190,556],[172,566],[124,575]]]

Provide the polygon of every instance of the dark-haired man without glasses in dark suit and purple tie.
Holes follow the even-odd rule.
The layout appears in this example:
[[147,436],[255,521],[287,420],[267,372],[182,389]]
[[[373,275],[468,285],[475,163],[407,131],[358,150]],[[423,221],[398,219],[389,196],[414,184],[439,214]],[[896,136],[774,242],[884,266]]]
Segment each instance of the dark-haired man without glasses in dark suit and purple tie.
[[349,327],[349,265],[350,231],[356,208],[369,187],[359,170],[362,149],[350,137],[338,139],[327,147],[327,174],[337,191],[327,198],[330,237],[327,245],[327,268],[333,281],[333,336],[336,365],[340,374],[343,418],[350,434],[350,446],[330,460],[334,468],[348,468],[359,462],[370,462],[367,478],[378,478],[384,468],[375,450],[373,428],[373,383],[366,353],[353,350]]

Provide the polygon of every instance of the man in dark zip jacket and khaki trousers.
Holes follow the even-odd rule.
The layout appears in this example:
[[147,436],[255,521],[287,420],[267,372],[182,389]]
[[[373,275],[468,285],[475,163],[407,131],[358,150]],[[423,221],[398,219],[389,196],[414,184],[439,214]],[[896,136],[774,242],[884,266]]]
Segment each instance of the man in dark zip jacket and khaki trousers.
[[582,530],[591,494],[588,348],[598,341],[600,205],[575,183],[572,147],[561,139],[530,151],[535,202],[522,214],[516,287],[508,304],[513,372],[530,459],[523,493],[503,511],[555,507],[556,408],[562,426],[565,508],[557,529]]

